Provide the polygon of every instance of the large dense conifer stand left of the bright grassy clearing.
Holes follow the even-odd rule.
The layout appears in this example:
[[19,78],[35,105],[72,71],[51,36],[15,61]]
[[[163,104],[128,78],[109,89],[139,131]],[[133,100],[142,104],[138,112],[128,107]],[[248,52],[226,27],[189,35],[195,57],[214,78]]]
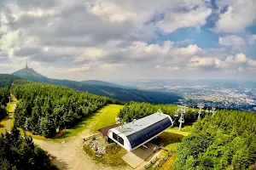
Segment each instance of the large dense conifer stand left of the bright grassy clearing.
[[73,127],[102,106],[118,100],[37,82],[16,81],[11,88],[19,102],[15,125],[33,134],[53,137],[56,129]]

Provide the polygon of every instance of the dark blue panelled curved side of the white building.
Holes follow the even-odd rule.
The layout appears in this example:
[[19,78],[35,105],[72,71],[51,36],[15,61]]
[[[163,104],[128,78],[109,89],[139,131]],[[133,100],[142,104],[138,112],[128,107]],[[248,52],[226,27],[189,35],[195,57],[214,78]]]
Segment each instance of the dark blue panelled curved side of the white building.
[[156,122],[149,127],[146,127],[136,133],[132,133],[127,136],[129,139],[131,148],[137,147],[139,144],[143,144],[143,142],[147,141],[148,139],[153,138],[158,133],[165,130],[167,127],[172,126],[171,120],[166,117],[165,119],[161,120],[160,122]]

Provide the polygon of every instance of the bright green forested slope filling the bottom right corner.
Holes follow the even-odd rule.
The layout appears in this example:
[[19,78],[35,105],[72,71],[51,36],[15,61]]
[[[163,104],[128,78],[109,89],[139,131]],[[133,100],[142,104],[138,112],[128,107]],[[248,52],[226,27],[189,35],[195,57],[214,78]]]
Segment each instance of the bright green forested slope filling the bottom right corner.
[[256,169],[256,115],[218,111],[195,122],[177,147],[174,169]]

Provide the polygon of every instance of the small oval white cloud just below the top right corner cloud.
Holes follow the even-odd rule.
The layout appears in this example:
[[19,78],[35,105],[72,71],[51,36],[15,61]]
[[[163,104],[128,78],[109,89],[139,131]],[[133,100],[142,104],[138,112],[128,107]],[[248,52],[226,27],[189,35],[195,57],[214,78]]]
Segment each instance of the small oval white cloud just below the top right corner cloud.
[[218,42],[224,46],[242,46],[245,44],[243,38],[235,35],[219,37]]

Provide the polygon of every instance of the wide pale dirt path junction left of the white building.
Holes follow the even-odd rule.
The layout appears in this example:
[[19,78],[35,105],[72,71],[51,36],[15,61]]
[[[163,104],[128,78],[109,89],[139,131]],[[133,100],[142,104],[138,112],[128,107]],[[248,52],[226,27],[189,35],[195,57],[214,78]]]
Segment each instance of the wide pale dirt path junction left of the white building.
[[[63,170],[112,170],[113,167],[104,167],[92,161],[90,156],[87,156],[83,150],[84,137],[89,136],[89,130],[84,130],[77,136],[72,137],[67,143],[55,143],[51,141],[33,139],[35,144],[38,144],[43,150],[49,154],[56,156],[53,163]],[[115,168],[116,169],[116,168]],[[124,169],[124,168],[122,168]]]

